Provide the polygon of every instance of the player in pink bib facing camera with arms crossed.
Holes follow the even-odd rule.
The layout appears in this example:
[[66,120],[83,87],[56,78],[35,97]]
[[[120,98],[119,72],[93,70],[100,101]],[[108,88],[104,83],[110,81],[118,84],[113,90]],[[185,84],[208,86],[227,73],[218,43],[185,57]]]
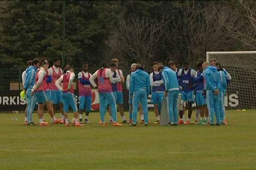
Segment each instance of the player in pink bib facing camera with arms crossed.
[[[92,76],[90,73],[88,73],[89,65],[87,62],[84,62],[82,65],[83,71],[79,72],[78,74],[78,88],[79,88],[79,123],[82,123],[82,114],[83,110],[85,111],[85,119],[84,123],[90,123],[88,121],[89,113],[91,109],[92,104],[92,92],[91,92],[91,84],[90,84],[90,77]],[[84,108],[84,104],[86,108]]]

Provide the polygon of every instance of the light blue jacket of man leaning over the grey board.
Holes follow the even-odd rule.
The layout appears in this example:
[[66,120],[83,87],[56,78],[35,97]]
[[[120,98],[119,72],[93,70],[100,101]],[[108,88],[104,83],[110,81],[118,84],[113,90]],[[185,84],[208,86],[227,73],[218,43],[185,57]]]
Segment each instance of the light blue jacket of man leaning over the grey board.
[[169,67],[163,69],[163,82],[166,91],[179,91],[179,83],[175,71]]

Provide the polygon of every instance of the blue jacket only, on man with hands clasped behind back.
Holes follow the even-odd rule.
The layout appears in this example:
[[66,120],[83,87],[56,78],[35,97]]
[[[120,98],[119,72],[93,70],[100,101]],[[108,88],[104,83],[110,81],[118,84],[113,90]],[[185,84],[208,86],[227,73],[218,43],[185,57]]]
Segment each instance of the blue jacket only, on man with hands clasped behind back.
[[203,72],[203,76],[205,79],[205,90],[215,91],[221,88],[220,74],[216,67],[208,66]]

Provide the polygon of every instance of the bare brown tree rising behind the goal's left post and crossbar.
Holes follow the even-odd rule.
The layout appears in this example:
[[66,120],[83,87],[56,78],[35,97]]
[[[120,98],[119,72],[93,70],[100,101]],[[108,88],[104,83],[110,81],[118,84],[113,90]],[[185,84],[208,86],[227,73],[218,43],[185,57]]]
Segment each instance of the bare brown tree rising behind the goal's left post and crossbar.
[[226,51],[237,48],[237,40],[228,35],[226,23],[233,24],[236,14],[225,1],[201,3],[187,1],[184,11],[187,60],[195,63],[206,51]]

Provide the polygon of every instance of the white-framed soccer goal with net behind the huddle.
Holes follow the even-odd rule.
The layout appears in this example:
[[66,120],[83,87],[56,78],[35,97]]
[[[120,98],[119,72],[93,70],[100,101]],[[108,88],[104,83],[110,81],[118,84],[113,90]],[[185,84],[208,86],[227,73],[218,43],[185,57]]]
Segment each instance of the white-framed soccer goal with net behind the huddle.
[[217,59],[232,77],[225,106],[256,109],[256,51],[211,51],[206,59]]

